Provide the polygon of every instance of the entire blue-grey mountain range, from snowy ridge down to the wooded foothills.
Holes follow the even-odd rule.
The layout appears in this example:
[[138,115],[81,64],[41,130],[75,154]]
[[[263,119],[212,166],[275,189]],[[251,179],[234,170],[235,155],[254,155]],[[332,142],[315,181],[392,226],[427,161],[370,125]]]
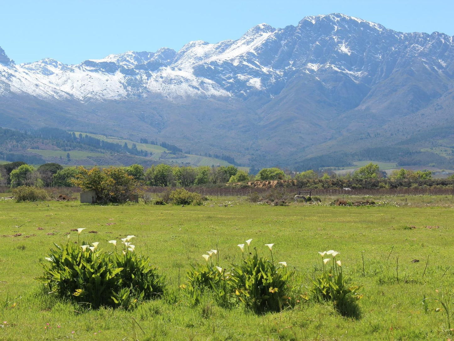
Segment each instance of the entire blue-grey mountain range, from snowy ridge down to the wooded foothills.
[[[453,37],[342,14],[78,65],[49,58],[16,65],[0,49],[2,126],[89,125],[253,166],[304,168],[305,157],[402,146],[415,130],[424,136],[454,125],[453,88]],[[450,137],[437,143],[454,145]]]

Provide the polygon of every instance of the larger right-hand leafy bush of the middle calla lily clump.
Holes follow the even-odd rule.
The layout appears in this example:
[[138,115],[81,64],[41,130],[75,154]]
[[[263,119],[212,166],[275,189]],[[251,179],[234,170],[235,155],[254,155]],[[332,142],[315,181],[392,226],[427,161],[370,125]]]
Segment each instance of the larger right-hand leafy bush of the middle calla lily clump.
[[295,271],[276,267],[273,261],[259,257],[257,249],[233,265],[231,282],[238,299],[256,312],[281,311],[289,304],[288,282]]

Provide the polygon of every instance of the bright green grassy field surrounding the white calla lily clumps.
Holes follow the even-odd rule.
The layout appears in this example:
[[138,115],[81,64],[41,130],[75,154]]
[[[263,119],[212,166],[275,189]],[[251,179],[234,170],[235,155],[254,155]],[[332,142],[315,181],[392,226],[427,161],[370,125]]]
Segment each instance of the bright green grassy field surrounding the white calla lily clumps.
[[[443,306],[427,300],[426,311],[422,303],[424,297],[454,300],[454,209],[448,197],[433,201],[444,206],[272,207],[232,197],[185,207],[0,201],[0,339],[448,340],[445,311],[435,311]],[[295,268],[307,291],[320,269],[317,251],[333,249],[351,282],[364,285],[361,316],[345,318],[332,304],[315,302],[256,315],[242,306],[220,308],[209,297],[195,307],[159,299],[130,312],[82,311],[43,295],[33,280],[49,247],[64,243],[67,233],[77,241],[70,229],[79,227],[87,228],[85,240],[108,250],[107,241],[135,235],[136,252],[150,256],[173,289],[205,251],[217,245],[220,264],[228,267],[241,257],[237,244],[253,238],[259,254],[275,243],[275,261]]]

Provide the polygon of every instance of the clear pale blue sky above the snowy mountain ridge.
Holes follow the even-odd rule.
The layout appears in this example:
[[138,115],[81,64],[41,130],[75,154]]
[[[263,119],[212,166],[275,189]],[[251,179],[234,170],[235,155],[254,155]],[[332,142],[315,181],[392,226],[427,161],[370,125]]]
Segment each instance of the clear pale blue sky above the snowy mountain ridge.
[[254,25],[296,25],[343,13],[387,28],[454,35],[454,1],[407,0],[16,0],[0,5],[0,46],[16,63],[67,64],[128,50],[180,49],[191,40],[237,39]]

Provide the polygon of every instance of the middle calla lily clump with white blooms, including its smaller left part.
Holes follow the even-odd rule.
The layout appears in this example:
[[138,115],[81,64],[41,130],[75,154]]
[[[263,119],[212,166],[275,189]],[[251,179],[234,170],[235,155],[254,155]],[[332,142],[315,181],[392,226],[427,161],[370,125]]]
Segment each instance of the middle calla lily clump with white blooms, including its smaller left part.
[[[274,265],[272,247],[265,244],[271,253],[271,260],[259,257],[257,248],[250,251],[252,239],[237,246],[241,251],[241,263],[219,266],[217,250],[207,251],[202,255],[205,264],[191,266],[188,282],[182,285],[192,304],[198,304],[204,291],[209,290],[217,297],[222,306],[232,306],[243,302],[256,311],[281,311],[290,304],[290,279],[295,271],[287,271],[287,263],[281,261]],[[245,254],[247,246],[247,255]],[[217,255],[217,264],[213,266],[213,257]]]

